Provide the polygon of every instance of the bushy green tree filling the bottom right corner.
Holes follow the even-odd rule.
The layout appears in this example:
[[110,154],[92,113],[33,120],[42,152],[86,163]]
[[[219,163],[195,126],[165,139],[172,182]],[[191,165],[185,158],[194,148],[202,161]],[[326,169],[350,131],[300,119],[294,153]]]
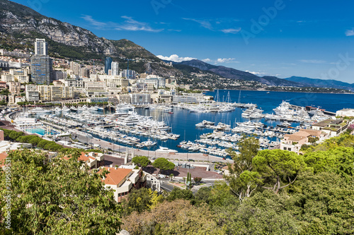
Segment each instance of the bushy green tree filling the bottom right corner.
[[333,172],[304,174],[285,208],[302,224],[303,234],[354,233],[354,179]]

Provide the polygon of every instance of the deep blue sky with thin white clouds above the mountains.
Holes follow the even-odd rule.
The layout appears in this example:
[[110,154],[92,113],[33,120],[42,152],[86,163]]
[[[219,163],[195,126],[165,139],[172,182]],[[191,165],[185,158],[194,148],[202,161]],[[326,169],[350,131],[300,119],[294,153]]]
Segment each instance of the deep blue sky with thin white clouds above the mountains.
[[16,0],[161,59],[354,83],[354,1]]

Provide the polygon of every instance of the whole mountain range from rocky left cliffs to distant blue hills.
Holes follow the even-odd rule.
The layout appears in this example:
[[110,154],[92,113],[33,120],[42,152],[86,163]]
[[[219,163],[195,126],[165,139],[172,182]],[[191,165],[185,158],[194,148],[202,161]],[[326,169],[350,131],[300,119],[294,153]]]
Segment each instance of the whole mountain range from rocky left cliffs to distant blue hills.
[[33,52],[35,38],[44,38],[48,42],[50,56],[86,61],[102,60],[104,56],[111,56],[114,61],[120,63],[120,68],[126,68],[127,58],[134,59],[129,66],[138,73],[149,72],[164,77],[174,76],[178,78],[179,83],[193,84],[198,88],[229,88],[230,85],[236,84],[234,80],[298,88],[304,86],[320,88],[331,86],[351,90],[354,88],[353,84],[335,80],[324,82],[324,80],[314,81],[310,78],[300,79],[299,77],[287,79],[271,76],[258,77],[249,72],[215,66],[197,59],[181,63],[173,62],[173,66],[169,66],[147,49],[130,40],[108,40],[104,37],[97,37],[89,30],[42,16],[27,6],[16,4],[13,1],[0,0],[0,47]]

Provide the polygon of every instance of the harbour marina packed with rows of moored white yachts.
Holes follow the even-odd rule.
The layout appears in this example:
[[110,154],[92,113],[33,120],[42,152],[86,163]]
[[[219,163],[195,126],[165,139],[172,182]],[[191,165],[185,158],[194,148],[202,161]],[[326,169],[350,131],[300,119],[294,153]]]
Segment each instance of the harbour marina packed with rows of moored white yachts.
[[[312,123],[332,118],[328,115],[331,111],[325,114],[325,110],[319,107],[308,111],[306,107],[292,104],[291,100],[281,100],[270,106],[268,100],[257,104],[254,100],[246,100],[249,97],[246,95],[243,97],[246,102],[241,103],[242,92],[219,93],[222,92],[227,92],[229,97],[238,94],[238,102],[151,104],[139,108],[120,104],[115,111],[86,105],[75,108],[63,106],[51,110],[36,108],[32,109],[35,112],[30,111],[21,116],[22,121],[25,121],[23,116],[28,115],[38,119],[38,122],[33,123],[25,121],[26,125],[33,128],[45,125],[63,133],[80,130],[88,136],[84,144],[92,143],[91,140],[97,138],[142,150],[200,152],[222,158],[229,157],[227,149],[237,150],[237,143],[243,135],[256,136],[261,149],[271,149],[280,145],[285,134],[295,133],[300,128],[310,128]],[[226,109],[232,110],[220,112]],[[20,117],[18,123],[21,126]]]

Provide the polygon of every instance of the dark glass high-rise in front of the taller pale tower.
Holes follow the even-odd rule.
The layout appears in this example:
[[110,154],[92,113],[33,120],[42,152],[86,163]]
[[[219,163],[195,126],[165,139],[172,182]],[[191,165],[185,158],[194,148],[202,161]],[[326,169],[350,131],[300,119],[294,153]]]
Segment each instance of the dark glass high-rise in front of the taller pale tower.
[[52,76],[52,59],[50,56],[33,55],[30,59],[33,83],[50,84]]

